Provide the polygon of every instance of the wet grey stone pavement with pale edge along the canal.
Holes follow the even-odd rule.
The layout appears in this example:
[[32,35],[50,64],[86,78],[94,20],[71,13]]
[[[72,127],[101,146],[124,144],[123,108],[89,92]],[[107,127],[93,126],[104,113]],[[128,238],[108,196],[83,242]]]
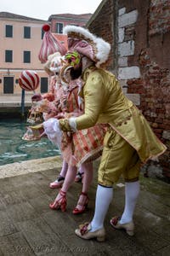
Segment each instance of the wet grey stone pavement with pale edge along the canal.
[[151,177],[141,177],[134,214],[135,236],[127,236],[109,224],[112,215],[122,213],[122,181],[115,186],[114,200],[105,219],[106,241],[84,241],[74,234],[78,224],[93,216],[98,164],[94,164],[88,210],[79,216],[71,211],[82,189],[81,183],[71,186],[66,212],[48,208],[57,193],[56,189],[48,188],[48,183],[60,171],[59,157],[0,166],[0,256],[169,256],[170,184]]

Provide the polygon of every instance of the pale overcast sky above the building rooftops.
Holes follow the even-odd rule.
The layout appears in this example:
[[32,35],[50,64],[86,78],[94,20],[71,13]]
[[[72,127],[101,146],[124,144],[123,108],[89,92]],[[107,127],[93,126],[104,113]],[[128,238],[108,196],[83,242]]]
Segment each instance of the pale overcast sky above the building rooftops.
[[0,0],[0,12],[48,20],[57,14],[93,14],[102,0]]

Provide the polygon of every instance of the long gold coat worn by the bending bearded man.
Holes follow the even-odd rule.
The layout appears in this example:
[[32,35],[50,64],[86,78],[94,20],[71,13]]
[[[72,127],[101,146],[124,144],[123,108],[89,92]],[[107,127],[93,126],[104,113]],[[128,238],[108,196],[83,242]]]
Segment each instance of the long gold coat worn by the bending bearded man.
[[[109,124],[135,148],[142,162],[162,154],[166,146],[156,137],[139,109],[123,95],[115,76],[96,67],[82,74],[84,113],[77,117],[77,130],[96,123]],[[61,125],[62,129],[62,125]]]

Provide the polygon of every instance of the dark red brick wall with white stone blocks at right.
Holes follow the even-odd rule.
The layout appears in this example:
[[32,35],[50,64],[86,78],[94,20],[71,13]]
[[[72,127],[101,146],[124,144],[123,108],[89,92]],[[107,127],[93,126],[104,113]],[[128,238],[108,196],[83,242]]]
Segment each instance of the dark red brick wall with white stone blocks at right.
[[167,146],[166,153],[158,161],[150,161],[146,169],[169,178],[170,2],[103,3],[88,28],[106,40],[109,38],[112,51],[108,68],[117,74],[127,97],[142,110],[156,136]]

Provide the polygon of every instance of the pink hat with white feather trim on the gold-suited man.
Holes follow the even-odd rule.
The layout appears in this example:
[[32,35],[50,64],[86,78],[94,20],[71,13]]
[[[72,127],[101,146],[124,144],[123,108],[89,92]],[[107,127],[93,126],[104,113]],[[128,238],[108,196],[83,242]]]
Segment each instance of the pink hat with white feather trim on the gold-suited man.
[[94,36],[88,29],[82,26],[65,26],[63,32],[67,34],[69,50],[74,49],[87,56],[97,67],[108,60],[111,45]]

